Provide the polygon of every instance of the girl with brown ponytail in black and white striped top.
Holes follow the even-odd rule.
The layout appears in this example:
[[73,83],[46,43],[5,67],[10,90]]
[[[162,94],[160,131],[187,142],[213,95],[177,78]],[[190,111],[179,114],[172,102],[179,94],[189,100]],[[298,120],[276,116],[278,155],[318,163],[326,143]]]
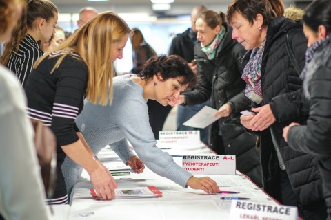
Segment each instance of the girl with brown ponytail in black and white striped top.
[[1,64],[17,75],[24,87],[34,61],[43,55],[38,41],[49,41],[55,33],[57,6],[49,0],[29,0],[12,39],[5,45]]

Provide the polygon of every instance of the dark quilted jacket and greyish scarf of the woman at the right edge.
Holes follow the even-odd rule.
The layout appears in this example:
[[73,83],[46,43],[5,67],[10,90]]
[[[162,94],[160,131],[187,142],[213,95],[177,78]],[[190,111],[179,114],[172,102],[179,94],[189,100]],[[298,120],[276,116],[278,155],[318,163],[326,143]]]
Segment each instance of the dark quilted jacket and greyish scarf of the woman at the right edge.
[[307,125],[294,126],[288,132],[288,144],[291,148],[320,158],[319,168],[329,218],[331,218],[330,58],[331,42],[328,40],[314,54],[305,76],[305,94],[309,100]]

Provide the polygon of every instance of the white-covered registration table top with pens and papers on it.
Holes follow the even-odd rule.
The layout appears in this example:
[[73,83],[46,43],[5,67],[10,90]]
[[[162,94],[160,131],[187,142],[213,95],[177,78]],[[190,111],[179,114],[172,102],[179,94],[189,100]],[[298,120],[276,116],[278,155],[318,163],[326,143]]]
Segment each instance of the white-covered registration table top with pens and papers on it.
[[[174,161],[178,164],[182,163],[180,155],[214,154],[203,145],[164,147],[163,151],[173,155]],[[104,148],[98,156],[106,167],[112,167],[114,164],[123,165],[123,162],[109,147]],[[195,176],[199,177],[199,175]],[[222,197],[245,197],[249,198],[248,201],[276,204],[276,201],[241,173],[208,176],[217,181],[220,190],[240,193],[208,195],[202,190],[182,188],[146,168],[141,174],[131,173],[131,175],[114,177],[118,188],[156,186],[163,192],[162,197],[97,201],[90,195],[92,184],[88,180],[86,172],[83,172],[81,180],[72,190],[69,219],[228,219],[231,200],[224,200]]]

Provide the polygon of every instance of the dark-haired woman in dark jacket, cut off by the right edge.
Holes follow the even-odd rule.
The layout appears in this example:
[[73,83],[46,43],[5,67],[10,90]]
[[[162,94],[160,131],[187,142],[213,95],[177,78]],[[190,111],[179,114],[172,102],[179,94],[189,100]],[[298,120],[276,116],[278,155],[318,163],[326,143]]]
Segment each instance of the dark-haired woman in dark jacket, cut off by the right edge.
[[283,137],[296,151],[319,158],[323,192],[331,219],[331,1],[317,0],[308,5],[303,16],[303,32],[308,50],[302,78],[309,101],[306,125],[292,123],[283,129]]

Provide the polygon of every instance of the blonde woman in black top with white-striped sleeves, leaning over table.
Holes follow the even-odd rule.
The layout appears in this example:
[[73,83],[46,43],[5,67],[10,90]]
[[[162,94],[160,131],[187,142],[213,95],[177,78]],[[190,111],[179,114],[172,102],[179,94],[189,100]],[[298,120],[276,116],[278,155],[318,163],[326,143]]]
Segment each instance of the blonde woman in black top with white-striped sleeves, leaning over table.
[[50,203],[68,201],[60,169],[66,155],[88,171],[98,195],[114,197],[117,185],[112,175],[91,151],[74,120],[83,109],[84,98],[94,104],[112,102],[113,62],[122,58],[129,33],[117,14],[103,12],[34,64],[25,87],[28,115],[50,126],[58,144],[57,185]]

